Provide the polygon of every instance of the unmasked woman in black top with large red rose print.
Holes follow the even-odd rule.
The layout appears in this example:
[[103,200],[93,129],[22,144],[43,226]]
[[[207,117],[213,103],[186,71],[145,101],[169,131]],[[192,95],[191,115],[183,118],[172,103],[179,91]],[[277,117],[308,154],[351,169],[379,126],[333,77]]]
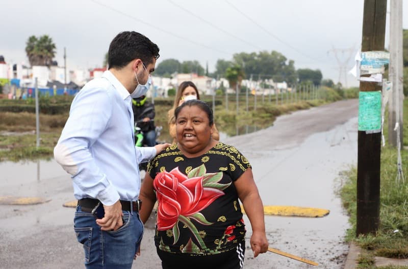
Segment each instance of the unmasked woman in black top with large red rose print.
[[140,191],[146,222],[158,201],[155,244],[163,269],[242,268],[245,224],[254,256],[268,248],[264,212],[248,160],[214,140],[213,113],[202,101],[175,110],[177,144],[156,156]]

